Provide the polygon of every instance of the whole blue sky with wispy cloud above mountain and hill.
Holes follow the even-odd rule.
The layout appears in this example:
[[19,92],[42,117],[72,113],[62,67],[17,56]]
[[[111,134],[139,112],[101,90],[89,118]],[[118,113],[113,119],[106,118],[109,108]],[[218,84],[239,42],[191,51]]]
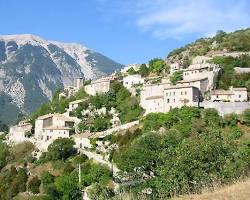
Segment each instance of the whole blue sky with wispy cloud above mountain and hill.
[[122,64],[250,26],[250,0],[0,0],[0,35],[77,42]]

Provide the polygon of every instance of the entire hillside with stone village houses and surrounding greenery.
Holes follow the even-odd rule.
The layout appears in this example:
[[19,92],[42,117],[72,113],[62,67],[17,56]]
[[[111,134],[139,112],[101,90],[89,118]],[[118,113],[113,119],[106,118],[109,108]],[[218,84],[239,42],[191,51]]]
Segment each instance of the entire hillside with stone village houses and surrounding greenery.
[[23,154],[21,145],[29,147],[22,161],[14,158],[16,169],[27,170],[27,187],[41,179],[35,192],[18,191],[122,199],[124,190],[140,197],[130,199],[166,199],[247,176],[249,56],[181,49],[95,80],[75,77],[9,128],[4,143]]

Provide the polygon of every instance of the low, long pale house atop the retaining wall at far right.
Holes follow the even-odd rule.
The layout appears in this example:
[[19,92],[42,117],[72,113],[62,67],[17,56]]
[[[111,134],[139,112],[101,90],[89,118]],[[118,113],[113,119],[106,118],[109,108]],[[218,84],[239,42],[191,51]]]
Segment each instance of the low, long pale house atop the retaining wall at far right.
[[212,90],[211,101],[245,102],[248,100],[246,88],[233,88],[229,90]]

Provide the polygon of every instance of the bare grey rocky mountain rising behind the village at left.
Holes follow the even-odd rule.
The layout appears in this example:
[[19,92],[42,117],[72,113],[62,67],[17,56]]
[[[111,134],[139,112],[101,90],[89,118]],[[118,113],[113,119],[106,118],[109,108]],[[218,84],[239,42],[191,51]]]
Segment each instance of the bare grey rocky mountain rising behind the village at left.
[[80,44],[0,36],[0,120],[10,123],[17,113],[34,111],[75,77],[96,79],[122,67]]

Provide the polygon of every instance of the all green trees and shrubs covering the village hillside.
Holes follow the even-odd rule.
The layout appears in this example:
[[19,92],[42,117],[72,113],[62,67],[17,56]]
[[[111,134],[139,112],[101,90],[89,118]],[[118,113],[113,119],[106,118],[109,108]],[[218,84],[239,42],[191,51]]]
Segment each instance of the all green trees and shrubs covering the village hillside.
[[[219,31],[213,38],[200,39],[171,52],[168,59],[188,66],[197,55],[222,50],[248,52],[249,35],[249,29],[229,34]],[[9,45],[11,51],[16,50],[15,43]],[[49,48],[56,56],[63,54],[57,46]],[[6,59],[6,55],[0,53],[1,59]],[[249,67],[249,55],[214,56],[211,62],[222,68],[217,88],[228,89],[232,85],[250,89],[250,74],[238,74],[235,70]],[[169,70],[169,63],[152,59],[138,71],[130,68],[128,74],[147,77],[169,74]],[[173,84],[182,80],[182,73],[173,73],[170,80]],[[51,101],[29,116],[19,115],[20,119],[29,118],[34,124],[41,115],[64,113],[69,102],[83,100],[70,113],[81,120],[76,127],[79,132],[110,128],[112,109],[123,124],[135,120],[140,123],[102,138],[99,142],[107,144],[104,146],[107,155],[96,148],[96,138],[90,139],[92,148],[81,151],[77,151],[73,139],[60,138],[49,145],[47,152],[41,153],[29,142],[7,145],[6,135],[0,135],[0,199],[80,200],[83,190],[88,191],[91,199],[98,200],[125,199],[126,196],[128,199],[170,199],[199,194],[205,189],[213,190],[215,185],[249,177],[250,109],[240,115],[232,113],[221,117],[214,109],[184,106],[168,113],[144,116],[139,97],[132,96],[119,80],[111,82],[109,92],[96,96],[87,95],[83,88],[69,98],[59,98],[59,93],[60,90],[56,90]],[[96,114],[103,108],[106,114]],[[90,112],[83,112],[86,110]],[[0,128],[5,131],[6,125],[0,123]],[[72,130],[72,134],[77,130]],[[89,159],[84,151],[100,158],[106,156],[111,167]],[[119,172],[115,173],[116,168]]]

